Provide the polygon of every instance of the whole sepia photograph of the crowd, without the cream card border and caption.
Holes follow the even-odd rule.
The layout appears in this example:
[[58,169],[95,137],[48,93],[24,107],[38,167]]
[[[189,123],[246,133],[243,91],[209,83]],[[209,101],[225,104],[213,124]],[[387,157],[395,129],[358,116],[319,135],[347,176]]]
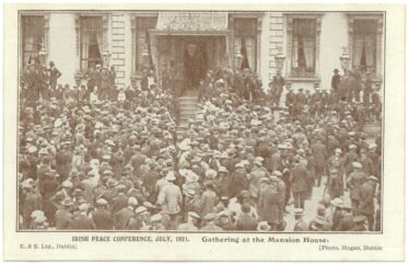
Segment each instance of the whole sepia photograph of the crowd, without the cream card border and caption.
[[384,23],[20,11],[19,230],[381,232]]

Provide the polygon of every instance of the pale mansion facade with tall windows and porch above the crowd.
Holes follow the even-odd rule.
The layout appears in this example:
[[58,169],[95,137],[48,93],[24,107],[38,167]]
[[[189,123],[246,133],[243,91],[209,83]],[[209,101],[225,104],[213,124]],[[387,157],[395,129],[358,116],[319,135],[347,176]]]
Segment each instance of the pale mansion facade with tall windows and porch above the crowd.
[[[175,68],[185,82],[187,47],[202,55],[203,71],[219,66],[256,71],[264,88],[285,59],[282,74],[294,89],[330,89],[332,70],[341,71],[344,47],[350,69],[371,74],[382,88],[384,14],[382,12],[148,12],[26,11],[20,13],[20,68],[42,50],[62,72],[60,83],[85,83],[96,64],[116,70],[118,88],[137,87],[145,67]],[[105,65],[107,62],[105,61]],[[341,71],[342,72],[342,71]]]

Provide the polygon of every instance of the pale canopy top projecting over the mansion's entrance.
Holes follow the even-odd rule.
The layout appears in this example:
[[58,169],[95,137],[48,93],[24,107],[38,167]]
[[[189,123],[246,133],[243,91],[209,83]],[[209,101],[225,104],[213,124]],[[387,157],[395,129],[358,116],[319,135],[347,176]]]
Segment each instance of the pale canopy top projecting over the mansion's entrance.
[[226,34],[227,12],[160,12],[152,33],[172,35]]

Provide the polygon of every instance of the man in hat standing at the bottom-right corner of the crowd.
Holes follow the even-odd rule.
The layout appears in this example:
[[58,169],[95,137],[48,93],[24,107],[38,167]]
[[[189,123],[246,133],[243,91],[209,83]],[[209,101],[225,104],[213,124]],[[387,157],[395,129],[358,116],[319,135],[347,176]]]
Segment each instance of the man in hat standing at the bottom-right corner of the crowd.
[[376,193],[376,184],[377,177],[371,175],[369,180],[361,185],[360,200],[358,206],[359,214],[365,216],[367,220],[367,229],[370,231],[374,230],[374,198]]

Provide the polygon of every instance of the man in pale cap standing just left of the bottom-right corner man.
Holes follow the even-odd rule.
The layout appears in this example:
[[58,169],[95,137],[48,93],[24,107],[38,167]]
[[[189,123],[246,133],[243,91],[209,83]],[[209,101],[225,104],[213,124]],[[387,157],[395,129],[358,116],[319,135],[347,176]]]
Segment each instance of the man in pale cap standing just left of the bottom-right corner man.
[[362,164],[360,162],[352,162],[352,167],[353,172],[347,179],[347,186],[350,190],[352,209],[357,213],[360,203],[361,186],[366,182],[366,175],[361,171]]

